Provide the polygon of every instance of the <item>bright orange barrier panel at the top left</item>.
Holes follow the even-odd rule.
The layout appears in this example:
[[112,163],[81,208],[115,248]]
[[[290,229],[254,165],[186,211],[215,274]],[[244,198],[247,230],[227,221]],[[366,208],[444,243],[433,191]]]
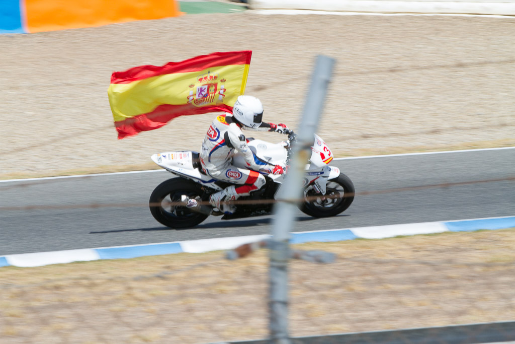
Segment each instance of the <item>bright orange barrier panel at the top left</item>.
[[25,0],[29,32],[177,17],[175,0]]

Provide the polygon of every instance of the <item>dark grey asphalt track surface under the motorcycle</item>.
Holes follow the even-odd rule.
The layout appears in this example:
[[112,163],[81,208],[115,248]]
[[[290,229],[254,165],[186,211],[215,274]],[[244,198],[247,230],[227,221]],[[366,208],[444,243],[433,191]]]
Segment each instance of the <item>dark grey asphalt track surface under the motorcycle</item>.
[[[359,194],[514,177],[515,149],[345,159],[331,165],[354,182],[354,203],[327,219],[299,211],[296,232],[515,215],[515,181]],[[270,216],[210,217],[188,230],[162,226],[146,204],[153,188],[170,177],[159,171],[0,183],[0,207],[56,207],[0,210],[0,255],[271,233]],[[95,203],[116,206],[60,208]]]

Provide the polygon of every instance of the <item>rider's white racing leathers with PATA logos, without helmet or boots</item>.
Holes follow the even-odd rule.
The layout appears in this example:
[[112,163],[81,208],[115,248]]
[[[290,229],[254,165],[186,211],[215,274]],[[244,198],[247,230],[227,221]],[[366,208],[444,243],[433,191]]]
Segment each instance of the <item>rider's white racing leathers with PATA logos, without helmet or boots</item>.
[[[274,131],[277,125],[262,123],[251,130]],[[232,157],[238,151],[245,157],[249,170],[231,165]],[[256,171],[271,173],[274,166],[256,157],[247,145],[242,129],[230,113],[218,116],[208,129],[200,150],[200,163],[205,173],[220,181],[242,186],[229,187],[232,198],[249,195],[265,185],[265,177]]]

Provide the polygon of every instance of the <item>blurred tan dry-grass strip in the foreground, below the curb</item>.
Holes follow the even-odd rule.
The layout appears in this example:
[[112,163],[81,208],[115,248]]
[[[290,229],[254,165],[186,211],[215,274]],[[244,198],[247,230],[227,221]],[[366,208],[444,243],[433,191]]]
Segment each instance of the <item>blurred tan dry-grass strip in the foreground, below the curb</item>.
[[[290,335],[512,321],[514,245],[515,228],[295,245],[337,259],[290,262]],[[260,250],[236,261],[210,252],[0,268],[0,341],[266,338],[267,265]]]

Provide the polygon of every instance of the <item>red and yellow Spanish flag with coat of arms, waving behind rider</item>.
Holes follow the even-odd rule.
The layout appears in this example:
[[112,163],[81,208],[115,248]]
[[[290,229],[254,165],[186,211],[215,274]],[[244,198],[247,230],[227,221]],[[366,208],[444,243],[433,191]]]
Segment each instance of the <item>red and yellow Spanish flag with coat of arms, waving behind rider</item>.
[[111,76],[108,96],[118,139],[179,116],[232,111],[245,91],[251,51],[213,53]]

